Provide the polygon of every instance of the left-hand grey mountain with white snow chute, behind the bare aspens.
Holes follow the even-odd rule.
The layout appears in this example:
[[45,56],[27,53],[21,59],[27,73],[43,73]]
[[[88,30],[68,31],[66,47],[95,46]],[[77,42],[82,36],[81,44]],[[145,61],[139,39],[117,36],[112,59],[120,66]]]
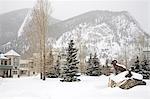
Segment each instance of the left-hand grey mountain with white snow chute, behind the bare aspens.
[[[29,29],[28,27],[32,25],[30,23],[30,18],[32,17],[30,15],[30,12],[31,9],[21,9],[21,10],[12,11],[7,14],[0,15],[0,21],[2,21],[2,23],[0,23],[0,38],[1,38],[0,41],[2,41],[0,42],[0,51],[7,52],[10,49],[14,49],[18,53],[20,53],[22,57],[28,57],[29,55],[31,55],[30,54],[32,53],[31,45],[29,44],[29,40],[27,39],[27,35],[25,33],[27,32],[26,29]],[[7,16],[6,18],[8,20],[13,20],[13,21],[3,20],[5,19],[4,16]],[[17,19],[19,19],[21,22],[18,21]],[[12,24],[14,23],[14,21],[15,24]],[[49,17],[49,27],[50,25],[55,24],[59,21],[60,20]],[[5,24],[8,24],[8,26],[6,26]],[[18,25],[19,28],[17,28]],[[5,29],[3,27],[7,27],[8,29]],[[7,31],[12,31],[12,32],[10,32],[11,33],[10,34],[7,33]],[[33,38],[33,39],[37,39],[37,38]],[[50,38],[48,38],[48,42],[51,42]]]

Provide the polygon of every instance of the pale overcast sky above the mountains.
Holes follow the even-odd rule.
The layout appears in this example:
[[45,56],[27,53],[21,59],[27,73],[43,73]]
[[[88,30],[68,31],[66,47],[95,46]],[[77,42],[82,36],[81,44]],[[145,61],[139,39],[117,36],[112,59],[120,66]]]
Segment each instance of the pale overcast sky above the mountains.
[[[33,7],[35,0],[0,0],[0,14]],[[52,16],[64,20],[91,10],[128,11],[150,33],[150,0],[52,0]]]

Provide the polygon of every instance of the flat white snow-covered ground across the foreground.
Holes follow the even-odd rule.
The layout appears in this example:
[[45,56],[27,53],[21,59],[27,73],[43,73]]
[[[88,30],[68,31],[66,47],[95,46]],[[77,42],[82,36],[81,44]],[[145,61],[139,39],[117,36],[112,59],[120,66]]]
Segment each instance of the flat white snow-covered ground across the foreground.
[[109,77],[81,76],[80,82],[60,82],[58,78],[39,76],[0,78],[0,99],[149,99],[150,81],[146,86],[129,90],[108,88]]

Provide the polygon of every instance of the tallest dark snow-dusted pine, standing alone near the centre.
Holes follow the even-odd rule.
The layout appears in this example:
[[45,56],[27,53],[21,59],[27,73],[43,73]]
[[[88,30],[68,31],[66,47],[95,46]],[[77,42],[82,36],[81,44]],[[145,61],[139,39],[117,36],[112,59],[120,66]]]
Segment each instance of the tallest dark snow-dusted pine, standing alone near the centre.
[[62,82],[74,82],[80,81],[77,77],[78,75],[78,67],[76,66],[79,61],[77,60],[77,49],[74,48],[73,40],[70,40],[69,47],[67,49],[66,55],[66,64],[62,67],[61,78]]

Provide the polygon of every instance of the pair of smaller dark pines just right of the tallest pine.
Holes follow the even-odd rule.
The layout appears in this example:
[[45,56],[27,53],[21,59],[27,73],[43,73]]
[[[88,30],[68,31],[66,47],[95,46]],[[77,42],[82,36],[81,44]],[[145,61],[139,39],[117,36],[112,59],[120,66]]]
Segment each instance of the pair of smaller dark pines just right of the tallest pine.
[[90,55],[86,74],[89,76],[101,75],[100,63],[99,63],[99,59],[97,58],[96,53],[95,53],[93,58],[91,58],[91,55]]

